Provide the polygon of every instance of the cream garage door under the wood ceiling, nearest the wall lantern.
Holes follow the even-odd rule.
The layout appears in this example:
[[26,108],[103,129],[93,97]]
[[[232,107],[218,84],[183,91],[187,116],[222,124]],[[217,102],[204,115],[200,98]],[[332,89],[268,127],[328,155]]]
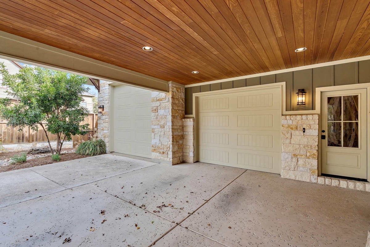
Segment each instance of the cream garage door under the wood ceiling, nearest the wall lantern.
[[281,91],[198,97],[199,161],[280,173]]

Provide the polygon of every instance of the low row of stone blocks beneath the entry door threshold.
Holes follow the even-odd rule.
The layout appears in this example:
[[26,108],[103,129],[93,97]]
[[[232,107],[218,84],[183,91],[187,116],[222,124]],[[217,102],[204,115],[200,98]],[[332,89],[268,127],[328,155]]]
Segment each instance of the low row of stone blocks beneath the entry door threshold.
[[360,191],[370,192],[369,182],[361,182],[361,181],[348,180],[348,179],[342,179],[342,178],[319,176],[317,177],[317,183],[331,185],[331,186],[340,187],[340,188],[349,188],[351,190],[360,190]]

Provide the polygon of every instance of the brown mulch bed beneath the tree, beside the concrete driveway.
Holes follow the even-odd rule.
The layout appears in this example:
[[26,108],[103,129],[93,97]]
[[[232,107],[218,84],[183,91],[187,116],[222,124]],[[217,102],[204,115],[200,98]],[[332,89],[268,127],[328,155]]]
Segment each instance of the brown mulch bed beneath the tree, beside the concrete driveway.
[[[23,153],[23,152],[11,152],[10,157],[14,156],[17,153]],[[75,154],[75,153],[66,153],[66,154],[61,154],[60,155],[60,161],[59,162],[68,161],[68,160],[75,160],[75,159],[78,159],[78,158],[85,158],[85,157],[88,157],[88,155],[80,155],[80,154]],[[41,157],[41,158],[33,158],[33,159],[27,160],[26,162],[21,163],[21,164],[10,164],[10,165],[7,165],[7,166],[2,166],[2,167],[0,167],[0,173],[5,172],[5,171],[13,171],[13,170],[18,170],[18,169],[23,169],[23,168],[30,168],[30,167],[35,167],[35,166],[43,166],[43,165],[52,164],[52,163],[58,163],[58,161],[51,160],[51,155]]]

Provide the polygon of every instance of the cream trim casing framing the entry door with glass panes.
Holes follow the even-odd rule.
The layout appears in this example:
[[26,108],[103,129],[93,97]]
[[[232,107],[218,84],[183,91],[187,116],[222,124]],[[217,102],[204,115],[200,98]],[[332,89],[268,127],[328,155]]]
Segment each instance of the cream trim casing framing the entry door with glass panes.
[[[316,113],[320,115],[319,121],[319,130],[321,129],[321,93],[327,91],[342,91],[342,90],[351,90],[351,89],[366,89],[366,96],[367,96],[367,121],[370,120],[370,83],[360,83],[360,84],[348,84],[348,85],[340,85],[340,86],[330,86],[330,87],[317,87],[316,88]],[[369,137],[370,133],[370,124],[367,124],[367,137]],[[366,138],[367,138],[366,137]],[[321,176],[321,142],[319,141],[318,146],[318,175]],[[367,181],[370,181],[370,140],[367,138]]]

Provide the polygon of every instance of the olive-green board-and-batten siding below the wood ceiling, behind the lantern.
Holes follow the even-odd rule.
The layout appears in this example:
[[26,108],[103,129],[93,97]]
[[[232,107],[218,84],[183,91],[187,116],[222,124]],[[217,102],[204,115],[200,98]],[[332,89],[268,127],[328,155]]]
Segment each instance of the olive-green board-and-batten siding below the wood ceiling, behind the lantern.
[[[193,114],[193,93],[249,87],[282,81],[286,82],[287,111],[314,110],[317,87],[370,83],[370,60],[186,87],[185,114]],[[305,89],[307,92],[306,105],[297,106],[295,104],[298,89]]]

